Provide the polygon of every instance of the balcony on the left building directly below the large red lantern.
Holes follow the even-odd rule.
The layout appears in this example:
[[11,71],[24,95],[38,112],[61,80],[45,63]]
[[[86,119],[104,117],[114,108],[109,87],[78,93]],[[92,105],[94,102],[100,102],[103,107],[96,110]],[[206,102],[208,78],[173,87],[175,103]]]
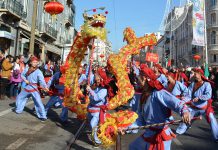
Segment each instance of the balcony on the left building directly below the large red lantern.
[[53,27],[51,27],[49,24],[44,23],[39,25],[40,29],[40,34],[42,36],[42,39],[44,38],[45,40],[52,40],[55,41],[57,39],[57,30],[55,30]]

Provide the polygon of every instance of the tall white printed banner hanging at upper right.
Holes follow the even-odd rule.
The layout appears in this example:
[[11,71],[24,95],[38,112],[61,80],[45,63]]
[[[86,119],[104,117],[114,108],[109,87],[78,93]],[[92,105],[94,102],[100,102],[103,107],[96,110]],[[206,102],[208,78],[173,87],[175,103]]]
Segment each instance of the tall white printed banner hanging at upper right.
[[204,46],[204,0],[191,0],[193,3],[192,26],[193,45]]

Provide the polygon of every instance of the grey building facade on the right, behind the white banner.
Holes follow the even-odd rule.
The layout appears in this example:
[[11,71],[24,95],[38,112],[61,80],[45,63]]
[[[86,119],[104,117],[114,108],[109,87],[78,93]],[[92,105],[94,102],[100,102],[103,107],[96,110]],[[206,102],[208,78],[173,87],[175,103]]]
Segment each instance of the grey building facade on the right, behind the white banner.
[[[217,39],[218,3],[217,3],[217,0],[207,0],[205,7],[206,7],[206,22],[207,22],[206,27],[207,27],[208,63],[209,63],[209,66],[218,66],[218,39]],[[178,66],[178,67],[199,66],[205,63],[204,48],[202,46],[192,45],[192,39],[193,39],[193,29],[192,28],[193,28],[192,27],[192,6],[190,6],[185,20],[176,30],[172,32],[172,38],[170,39],[171,36],[170,36],[169,31],[166,31],[164,33],[164,38],[165,38],[164,57],[167,59],[171,58],[173,62],[172,64],[174,66]],[[201,59],[199,61],[196,61],[193,59],[193,56],[196,54],[201,56]],[[165,61],[167,59],[165,59]]]

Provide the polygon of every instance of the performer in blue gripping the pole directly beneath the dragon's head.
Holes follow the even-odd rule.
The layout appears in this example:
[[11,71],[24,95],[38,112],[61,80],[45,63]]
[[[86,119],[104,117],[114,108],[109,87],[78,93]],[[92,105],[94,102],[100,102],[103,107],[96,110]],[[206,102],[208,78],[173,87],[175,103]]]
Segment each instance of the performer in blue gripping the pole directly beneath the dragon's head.
[[[107,89],[101,86],[101,80],[100,75],[95,74],[95,82],[92,85],[92,88],[87,86],[90,99],[88,105],[88,119],[90,120],[90,126],[92,129],[98,126],[99,121],[104,121],[104,110],[106,109],[107,104]],[[101,141],[97,137],[97,128],[94,133],[94,141],[95,146],[101,144]]]

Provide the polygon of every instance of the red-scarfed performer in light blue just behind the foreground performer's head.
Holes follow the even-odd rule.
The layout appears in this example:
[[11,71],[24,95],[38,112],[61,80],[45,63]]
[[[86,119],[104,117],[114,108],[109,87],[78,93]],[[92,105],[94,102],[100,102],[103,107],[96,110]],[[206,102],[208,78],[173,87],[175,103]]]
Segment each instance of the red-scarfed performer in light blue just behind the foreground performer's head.
[[157,80],[160,81],[164,88],[167,88],[167,78],[165,76],[163,68],[159,64],[154,64],[153,70],[156,76],[158,77]]

